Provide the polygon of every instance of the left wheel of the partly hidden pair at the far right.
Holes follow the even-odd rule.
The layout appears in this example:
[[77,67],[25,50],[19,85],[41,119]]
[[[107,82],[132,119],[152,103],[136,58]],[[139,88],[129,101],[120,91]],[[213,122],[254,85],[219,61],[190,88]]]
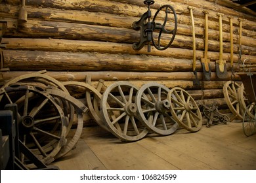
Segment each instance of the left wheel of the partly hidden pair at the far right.
[[243,120],[240,102],[238,99],[239,87],[240,84],[232,81],[226,82],[223,86],[224,99],[226,101],[226,104],[228,105],[228,108],[230,109],[232,114],[234,114],[234,118],[232,118],[232,120],[234,120],[235,118]]

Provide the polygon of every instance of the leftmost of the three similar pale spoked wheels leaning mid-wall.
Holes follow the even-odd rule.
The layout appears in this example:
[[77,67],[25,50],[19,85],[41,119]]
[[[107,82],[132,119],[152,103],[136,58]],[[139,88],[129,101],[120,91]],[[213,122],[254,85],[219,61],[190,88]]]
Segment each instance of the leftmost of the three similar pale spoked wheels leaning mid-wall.
[[138,141],[148,133],[148,129],[137,116],[137,92],[138,88],[129,82],[116,82],[108,86],[102,95],[102,120],[121,141]]

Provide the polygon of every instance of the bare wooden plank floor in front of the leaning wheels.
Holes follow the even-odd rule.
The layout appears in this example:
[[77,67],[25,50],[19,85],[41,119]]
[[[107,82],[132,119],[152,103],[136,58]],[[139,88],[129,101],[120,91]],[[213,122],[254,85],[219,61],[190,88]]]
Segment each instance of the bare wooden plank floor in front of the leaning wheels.
[[196,133],[179,129],[129,143],[92,131],[85,128],[76,148],[53,165],[65,170],[256,170],[256,135],[245,137],[242,123],[203,125]]

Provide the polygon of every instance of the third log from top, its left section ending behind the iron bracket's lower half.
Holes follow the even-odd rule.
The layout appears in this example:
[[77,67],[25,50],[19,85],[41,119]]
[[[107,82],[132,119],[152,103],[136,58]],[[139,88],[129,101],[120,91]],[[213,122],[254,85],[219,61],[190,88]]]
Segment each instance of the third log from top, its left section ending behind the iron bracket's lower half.
[[[72,24],[66,22],[47,22],[28,20],[20,32],[6,33],[7,36],[15,34],[17,37],[44,37],[56,39],[82,39],[93,41],[126,42],[133,43],[140,40],[140,33],[131,29],[106,27],[98,25]],[[162,37],[163,43],[169,39]],[[203,39],[196,38],[196,49],[204,50]],[[192,37],[176,35],[172,45],[177,48],[192,49]],[[209,40],[209,51],[219,52],[219,41]],[[243,46],[242,54],[256,55],[256,47]],[[239,46],[234,44],[234,53],[238,53]],[[230,52],[230,42],[223,42],[223,52]]]

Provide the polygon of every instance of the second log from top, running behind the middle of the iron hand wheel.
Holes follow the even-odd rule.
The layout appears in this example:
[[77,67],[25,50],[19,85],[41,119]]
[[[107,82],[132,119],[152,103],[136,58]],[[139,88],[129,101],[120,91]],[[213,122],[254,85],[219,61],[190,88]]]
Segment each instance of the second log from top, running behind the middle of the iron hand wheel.
[[[125,27],[132,29],[131,25],[137,21],[138,18],[131,16],[119,16],[115,14],[106,14],[100,12],[87,12],[79,10],[56,10],[54,8],[35,8],[26,7],[28,10],[28,18],[46,21],[57,21],[57,22],[73,22],[80,24],[91,24],[91,25],[105,25],[110,27]],[[0,7],[0,16],[16,18],[19,8],[11,6],[9,8]],[[75,16],[74,16],[75,14]],[[182,16],[182,15],[180,15]],[[192,35],[191,25],[187,25],[188,22],[180,22],[177,28],[177,34],[181,35]],[[234,28],[234,27],[233,27]],[[195,27],[196,35],[202,37],[204,27],[198,25]],[[234,28],[235,29],[235,28]],[[228,31],[229,28],[226,30]],[[238,44],[238,31],[235,31],[234,43]],[[254,35],[254,32],[253,32]],[[209,29],[209,39],[219,39],[219,30]],[[223,41],[230,41],[230,34],[223,31]],[[256,47],[256,39],[251,39],[248,36],[242,36],[242,44],[245,46]]]

